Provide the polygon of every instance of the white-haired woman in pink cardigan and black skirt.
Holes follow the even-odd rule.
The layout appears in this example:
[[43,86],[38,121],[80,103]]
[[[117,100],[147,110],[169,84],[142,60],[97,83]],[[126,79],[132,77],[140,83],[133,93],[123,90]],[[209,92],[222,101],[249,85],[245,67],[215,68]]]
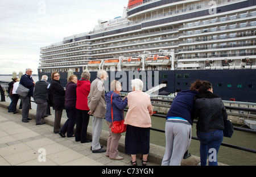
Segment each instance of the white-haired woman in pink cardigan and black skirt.
[[136,154],[143,154],[144,166],[150,149],[150,116],[153,114],[153,107],[150,96],[142,91],[143,82],[140,79],[131,80],[131,87],[133,91],[127,95],[129,110],[125,117],[125,152],[131,154],[132,165],[137,165]]

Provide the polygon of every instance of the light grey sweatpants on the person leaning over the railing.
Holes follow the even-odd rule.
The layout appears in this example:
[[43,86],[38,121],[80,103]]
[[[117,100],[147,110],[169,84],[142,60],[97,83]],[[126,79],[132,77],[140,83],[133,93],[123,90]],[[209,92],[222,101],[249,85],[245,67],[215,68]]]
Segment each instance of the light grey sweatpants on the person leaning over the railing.
[[162,166],[181,164],[191,142],[191,127],[186,121],[166,121],[166,151]]

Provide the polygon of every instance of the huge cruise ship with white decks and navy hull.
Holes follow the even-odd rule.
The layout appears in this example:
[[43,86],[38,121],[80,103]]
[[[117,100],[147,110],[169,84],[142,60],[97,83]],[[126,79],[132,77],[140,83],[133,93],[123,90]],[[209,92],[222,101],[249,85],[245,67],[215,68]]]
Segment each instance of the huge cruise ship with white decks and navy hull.
[[108,71],[106,91],[140,78],[143,91],[174,94],[201,79],[222,100],[256,102],[256,1],[129,0],[121,16],[40,48],[39,78],[59,71],[65,86],[85,69],[90,81]]

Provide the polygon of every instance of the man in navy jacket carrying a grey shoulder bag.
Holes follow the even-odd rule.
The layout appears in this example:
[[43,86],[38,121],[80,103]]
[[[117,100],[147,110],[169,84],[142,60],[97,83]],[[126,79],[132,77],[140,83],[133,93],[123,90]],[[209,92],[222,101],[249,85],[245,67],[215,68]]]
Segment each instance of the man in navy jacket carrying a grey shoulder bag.
[[30,111],[30,98],[31,96],[33,96],[33,91],[35,86],[35,82],[32,79],[31,75],[32,75],[32,70],[30,68],[27,68],[26,74],[22,75],[19,82],[19,84],[30,89],[30,92],[28,92],[28,95],[26,96],[26,98],[23,98],[22,96],[20,96],[22,100],[22,121],[24,123],[28,123],[28,120],[31,120],[31,118],[28,118],[28,112]]

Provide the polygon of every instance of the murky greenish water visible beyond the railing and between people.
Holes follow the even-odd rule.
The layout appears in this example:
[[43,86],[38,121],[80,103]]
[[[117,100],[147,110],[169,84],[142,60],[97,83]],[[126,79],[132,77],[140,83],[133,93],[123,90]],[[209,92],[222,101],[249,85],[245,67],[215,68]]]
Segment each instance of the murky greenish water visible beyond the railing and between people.
[[[11,81],[11,76],[0,76],[0,81]],[[38,81],[38,77],[33,77],[34,81]],[[7,102],[10,102],[9,98],[6,98]],[[19,104],[19,102],[18,102]],[[32,109],[36,109],[36,104],[31,104]],[[51,107],[51,113],[54,114],[54,111]],[[126,113],[126,112],[125,112]],[[67,119],[67,115],[65,111],[63,111],[63,118]],[[160,117],[151,116],[152,120],[152,128],[158,128],[164,130],[166,120]],[[90,117],[89,125],[92,126],[92,117]],[[108,130],[108,125],[103,124],[104,130]],[[125,133],[123,133],[125,136]],[[192,136],[196,137],[196,124],[193,125],[192,128]],[[156,144],[159,146],[165,147],[166,145],[166,137],[162,132],[156,132],[151,130],[150,132],[150,142],[152,144]],[[256,135],[255,133],[247,133],[235,130],[232,138],[224,137],[223,140],[226,144],[232,144],[242,147],[247,147],[250,149],[256,149]],[[191,145],[189,146],[188,152],[192,155],[200,156],[199,153],[200,142],[198,140],[192,140]],[[243,150],[237,150],[230,147],[221,146],[218,151],[218,162],[234,165],[234,166],[256,166],[256,154],[249,153]]]

